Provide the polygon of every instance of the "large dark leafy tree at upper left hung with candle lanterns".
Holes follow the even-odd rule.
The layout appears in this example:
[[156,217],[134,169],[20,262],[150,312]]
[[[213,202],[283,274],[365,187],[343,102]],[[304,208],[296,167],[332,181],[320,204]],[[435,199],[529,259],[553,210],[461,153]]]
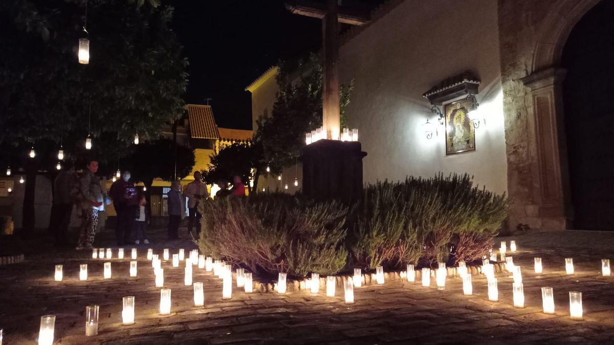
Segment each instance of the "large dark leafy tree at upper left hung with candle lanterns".
[[[91,58],[79,64],[86,4]],[[25,163],[26,232],[34,227],[36,173],[55,165],[51,153],[60,143],[67,158],[87,153],[104,167],[135,134],[157,138],[184,113],[187,60],[169,28],[172,15],[159,0],[0,2],[0,128],[8,129],[0,147],[20,157],[31,146],[39,153]],[[88,134],[91,152],[84,150]]]

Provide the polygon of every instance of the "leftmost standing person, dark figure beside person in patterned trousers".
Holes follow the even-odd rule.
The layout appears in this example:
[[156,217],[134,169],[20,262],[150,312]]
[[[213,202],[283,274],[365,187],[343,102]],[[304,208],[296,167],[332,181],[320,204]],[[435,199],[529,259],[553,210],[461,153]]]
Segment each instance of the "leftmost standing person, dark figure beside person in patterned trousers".
[[68,225],[71,223],[72,198],[71,190],[77,183],[77,174],[71,162],[64,163],[64,169],[53,180],[52,228],[55,246],[68,244]]

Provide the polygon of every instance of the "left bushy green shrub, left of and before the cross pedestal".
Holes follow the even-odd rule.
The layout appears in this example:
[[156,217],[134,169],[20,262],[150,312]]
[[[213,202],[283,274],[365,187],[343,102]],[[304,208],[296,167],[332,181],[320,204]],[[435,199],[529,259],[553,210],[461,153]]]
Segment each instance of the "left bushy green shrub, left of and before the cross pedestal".
[[334,274],[346,264],[343,223],[347,208],[282,193],[202,203],[198,246],[259,274]]

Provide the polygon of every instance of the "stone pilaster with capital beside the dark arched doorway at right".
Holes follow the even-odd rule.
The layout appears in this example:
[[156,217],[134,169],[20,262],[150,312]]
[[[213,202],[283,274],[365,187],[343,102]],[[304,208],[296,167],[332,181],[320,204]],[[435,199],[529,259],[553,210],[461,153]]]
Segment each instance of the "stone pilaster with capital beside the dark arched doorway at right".
[[543,230],[564,230],[573,219],[561,90],[564,77],[564,69],[550,68],[522,79],[532,96],[532,195]]

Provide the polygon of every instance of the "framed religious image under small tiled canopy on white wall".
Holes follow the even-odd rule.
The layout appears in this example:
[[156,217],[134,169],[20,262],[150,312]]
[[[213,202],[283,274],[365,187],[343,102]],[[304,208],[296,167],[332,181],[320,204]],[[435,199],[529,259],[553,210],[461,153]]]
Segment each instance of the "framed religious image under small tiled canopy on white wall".
[[475,131],[467,116],[470,107],[464,98],[445,105],[446,155],[475,151]]

